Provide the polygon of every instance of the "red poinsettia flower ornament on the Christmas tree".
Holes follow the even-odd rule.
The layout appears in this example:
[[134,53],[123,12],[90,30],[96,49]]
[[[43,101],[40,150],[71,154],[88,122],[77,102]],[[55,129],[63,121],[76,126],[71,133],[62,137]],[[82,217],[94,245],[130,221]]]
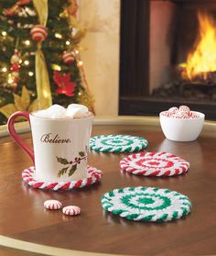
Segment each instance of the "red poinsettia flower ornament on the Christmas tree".
[[70,82],[70,72],[61,75],[60,72],[55,71],[53,80],[57,85],[56,92],[58,95],[73,96],[75,94],[75,83]]

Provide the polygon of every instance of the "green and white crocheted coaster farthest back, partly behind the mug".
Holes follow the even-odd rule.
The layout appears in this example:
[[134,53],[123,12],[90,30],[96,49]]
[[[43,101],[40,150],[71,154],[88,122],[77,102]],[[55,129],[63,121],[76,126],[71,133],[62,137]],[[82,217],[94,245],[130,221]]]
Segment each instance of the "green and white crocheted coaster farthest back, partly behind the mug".
[[99,135],[90,139],[90,148],[102,152],[135,152],[144,150],[147,140],[131,135]]

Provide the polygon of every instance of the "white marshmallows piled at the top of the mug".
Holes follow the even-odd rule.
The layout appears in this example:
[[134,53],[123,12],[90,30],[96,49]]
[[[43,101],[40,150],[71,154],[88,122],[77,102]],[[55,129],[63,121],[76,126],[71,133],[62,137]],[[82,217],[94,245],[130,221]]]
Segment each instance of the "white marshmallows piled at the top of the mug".
[[89,115],[90,112],[88,107],[81,104],[70,104],[67,108],[55,104],[49,106],[47,109],[39,110],[34,113],[34,116],[36,117],[46,118],[81,118],[89,117]]

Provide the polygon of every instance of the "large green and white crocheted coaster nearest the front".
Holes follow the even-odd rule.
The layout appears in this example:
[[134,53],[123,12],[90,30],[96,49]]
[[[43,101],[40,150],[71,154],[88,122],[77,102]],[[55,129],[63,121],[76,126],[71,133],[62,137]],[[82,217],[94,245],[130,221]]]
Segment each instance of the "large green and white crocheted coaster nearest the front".
[[102,197],[104,210],[135,221],[163,222],[185,217],[191,210],[189,198],[157,187],[114,189]]

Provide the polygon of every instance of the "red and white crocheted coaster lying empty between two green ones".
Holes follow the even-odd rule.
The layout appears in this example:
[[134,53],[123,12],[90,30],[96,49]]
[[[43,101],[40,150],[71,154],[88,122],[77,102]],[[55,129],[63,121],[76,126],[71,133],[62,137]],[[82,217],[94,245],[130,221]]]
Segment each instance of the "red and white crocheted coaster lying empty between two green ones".
[[129,155],[120,161],[122,170],[144,176],[174,176],[189,170],[185,161],[167,152],[141,152]]

